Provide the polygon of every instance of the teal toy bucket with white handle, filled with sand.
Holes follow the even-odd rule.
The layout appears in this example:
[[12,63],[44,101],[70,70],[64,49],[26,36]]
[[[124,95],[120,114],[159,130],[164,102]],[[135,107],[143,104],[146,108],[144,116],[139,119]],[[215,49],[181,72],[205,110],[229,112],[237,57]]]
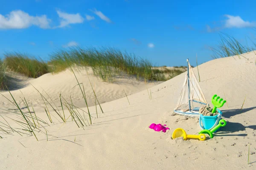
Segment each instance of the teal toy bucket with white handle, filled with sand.
[[221,120],[221,115],[222,115],[222,112],[220,110],[218,110],[218,115],[215,115],[215,116],[204,116],[200,114],[199,125],[201,129],[211,130]]

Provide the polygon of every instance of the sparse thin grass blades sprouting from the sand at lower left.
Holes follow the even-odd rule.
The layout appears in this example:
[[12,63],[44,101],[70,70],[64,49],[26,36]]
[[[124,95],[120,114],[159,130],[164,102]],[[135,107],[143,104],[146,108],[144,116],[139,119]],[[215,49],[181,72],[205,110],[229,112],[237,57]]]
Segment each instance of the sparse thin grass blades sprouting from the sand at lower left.
[[[73,71],[73,69],[72,69],[72,71]],[[75,73],[74,73],[74,76],[76,77]],[[82,93],[82,95],[84,97],[84,101],[85,101],[85,103],[87,105],[87,99],[86,99],[86,95],[85,95],[85,92],[84,92],[84,86],[82,84],[82,87],[81,87],[81,84],[79,83],[78,80],[77,80],[77,83],[78,83],[78,85],[79,85],[79,87],[81,89],[81,93]],[[35,88],[35,86],[33,86],[33,87]],[[9,91],[8,88],[7,88],[7,90]],[[84,115],[85,111],[80,109],[79,107],[76,107],[73,104],[71,96],[70,96],[70,102],[67,102],[67,100],[63,96],[61,96],[61,94],[59,94],[59,98],[60,98],[59,101],[61,102],[61,109],[62,109],[62,112],[63,112],[63,115],[62,115],[61,112],[59,111],[58,107],[55,105],[54,101],[47,94],[47,92],[44,91],[47,94],[49,99],[47,99],[47,97],[45,97],[38,89],[35,88],[35,90],[38,91],[39,95],[41,95],[41,98],[44,101],[44,104],[45,104],[44,109],[45,109],[45,112],[47,114],[47,117],[49,118],[50,123],[54,124],[54,121],[51,118],[51,115],[52,115],[57,121],[59,121],[59,119],[61,119],[63,121],[63,123],[66,123],[67,120],[71,116],[72,121],[75,121],[77,126],[78,127],[82,127],[83,129],[84,129],[84,126],[87,126],[87,124],[88,124],[88,126],[90,126],[90,124],[92,124],[92,120],[91,120],[92,116],[90,115],[90,111],[89,111],[88,106],[87,106],[88,112],[86,112],[86,113],[89,116],[90,123],[88,122],[86,116]],[[44,133],[44,131],[41,130],[41,128],[44,128],[44,130],[46,131],[44,134],[46,134],[47,141],[48,141],[47,129],[42,124],[45,124],[45,125],[48,125],[48,126],[50,126],[50,124],[48,124],[47,121],[44,121],[41,118],[39,118],[35,114],[35,110],[34,110],[33,107],[32,107],[32,109],[29,108],[29,104],[27,103],[27,100],[24,97],[24,95],[23,95],[23,98],[21,98],[21,99],[22,99],[22,102],[23,102],[23,104],[25,105],[25,107],[27,109],[27,112],[23,111],[23,109],[20,109],[21,108],[20,105],[17,104],[15,98],[13,97],[13,95],[12,95],[12,93],[10,91],[9,91],[9,94],[11,95],[13,101],[11,101],[9,98],[7,98],[3,94],[1,94],[1,95],[4,98],[6,98],[9,102],[11,102],[13,105],[15,105],[15,107],[17,107],[18,111],[11,111],[11,109],[3,109],[3,108],[0,108],[0,109],[2,109],[4,111],[7,111],[7,112],[15,113],[16,118],[10,118],[8,116],[6,116],[6,117],[11,119],[12,121],[14,121],[19,127],[11,127],[10,124],[8,123],[8,121],[6,121],[6,119],[2,115],[0,115],[3,118],[3,120],[4,120],[4,121],[2,121],[0,119],[0,138],[3,138],[2,134],[4,134],[4,135],[5,134],[6,135],[12,135],[12,133],[18,133],[21,136],[23,136],[23,135],[35,136],[36,140],[38,141],[36,133]],[[95,98],[97,98],[95,92],[94,92],[94,95],[95,95]],[[49,102],[49,100],[51,102]],[[48,109],[47,105],[49,106],[49,108],[52,109],[53,113],[54,112],[56,113],[55,115],[58,115],[57,117],[55,117],[55,115],[50,112],[50,109]],[[70,112],[70,116],[68,118],[65,117],[63,106],[65,106],[67,108],[67,110]],[[101,106],[100,106],[100,108],[101,108]],[[79,110],[82,111],[82,114],[81,114],[81,112],[79,112]],[[102,110],[102,108],[101,108],[101,110]],[[103,112],[103,110],[102,110],[102,112]],[[86,123],[86,121],[87,121],[87,123]],[[59,121],[59,123],[62,123],[62,122]]]

